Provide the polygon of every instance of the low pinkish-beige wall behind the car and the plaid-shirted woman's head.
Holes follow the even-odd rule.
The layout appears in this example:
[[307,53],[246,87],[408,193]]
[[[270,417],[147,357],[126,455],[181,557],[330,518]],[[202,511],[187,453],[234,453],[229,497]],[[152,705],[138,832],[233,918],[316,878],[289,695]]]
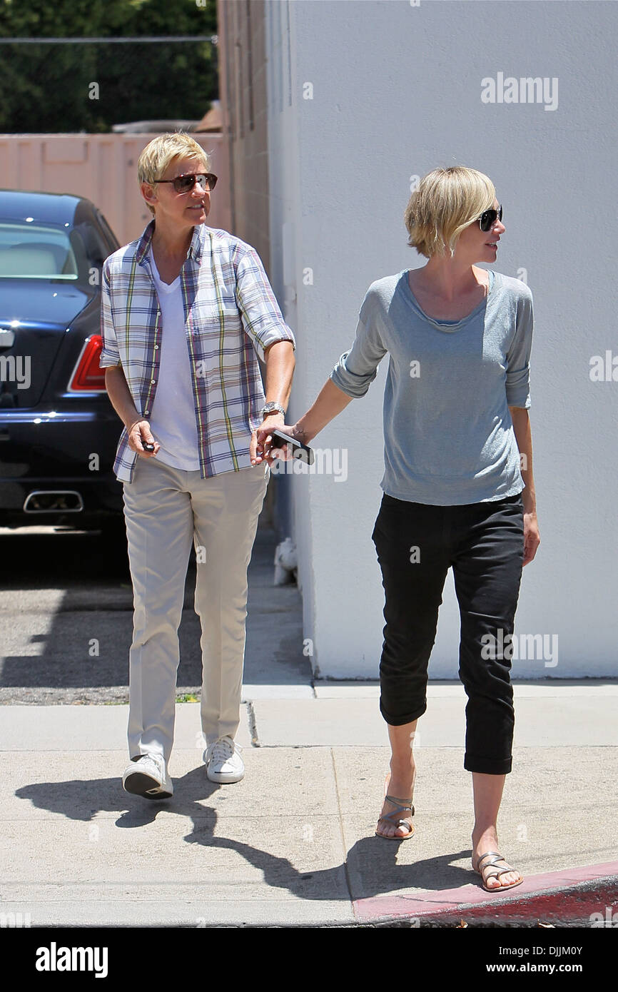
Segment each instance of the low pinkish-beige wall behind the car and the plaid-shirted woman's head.
[[[155,134],[0,135],[0,186],[68,192],[91,199],[121,244],[138,237],[150,213],[137,185],[137,161]],[[209,227],[230,229],[227,140],[220,134],[193,134],[211,157],[219,177],[211,197]]]

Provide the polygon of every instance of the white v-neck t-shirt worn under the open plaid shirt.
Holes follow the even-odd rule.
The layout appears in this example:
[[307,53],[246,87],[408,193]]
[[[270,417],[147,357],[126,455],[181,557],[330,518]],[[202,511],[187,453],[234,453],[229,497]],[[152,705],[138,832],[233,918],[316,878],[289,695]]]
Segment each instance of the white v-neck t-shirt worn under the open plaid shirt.
[[187,472],[199,470],[199,444],[186,347],[185,308],[181,277],[164,283],[152,251],[150,263],[159,306],[162,333],[159,382],[149,424],[161,444],[157,459]]

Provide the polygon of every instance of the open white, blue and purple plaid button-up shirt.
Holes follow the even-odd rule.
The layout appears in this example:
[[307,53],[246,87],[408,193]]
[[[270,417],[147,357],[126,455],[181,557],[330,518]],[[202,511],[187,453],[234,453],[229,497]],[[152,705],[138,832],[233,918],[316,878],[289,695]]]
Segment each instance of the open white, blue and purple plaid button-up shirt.
[[[152,276],[155,221],[110,255],[101,279],[100,367],[122,365],[138,414],[148,419],[159,380],[162,317]],[[181,270],[201,478],[251,465],[249,442],[266,402],[258,356],[294,334],[260,257],[227,231],[194,227]],[[139,455],[120,434],[114,472],[131,482]]]

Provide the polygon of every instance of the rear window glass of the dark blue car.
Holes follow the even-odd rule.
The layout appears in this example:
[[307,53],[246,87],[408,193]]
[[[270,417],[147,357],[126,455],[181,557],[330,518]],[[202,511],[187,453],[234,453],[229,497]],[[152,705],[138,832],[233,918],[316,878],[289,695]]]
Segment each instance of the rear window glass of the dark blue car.
[[0,278],[76,280],[77,260],[68,231],[0,220]]

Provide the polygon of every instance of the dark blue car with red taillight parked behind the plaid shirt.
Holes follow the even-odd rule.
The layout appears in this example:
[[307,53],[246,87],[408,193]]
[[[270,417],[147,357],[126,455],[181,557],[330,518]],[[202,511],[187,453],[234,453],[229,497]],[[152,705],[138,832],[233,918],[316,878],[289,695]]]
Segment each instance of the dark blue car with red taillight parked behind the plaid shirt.
[[122,425],[98,365],[101,266],[118,247],[87,199],[0,189],[0,526],[122,520]]

